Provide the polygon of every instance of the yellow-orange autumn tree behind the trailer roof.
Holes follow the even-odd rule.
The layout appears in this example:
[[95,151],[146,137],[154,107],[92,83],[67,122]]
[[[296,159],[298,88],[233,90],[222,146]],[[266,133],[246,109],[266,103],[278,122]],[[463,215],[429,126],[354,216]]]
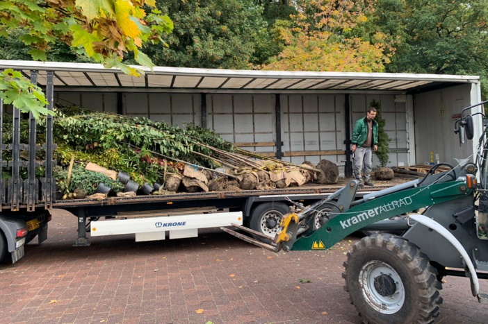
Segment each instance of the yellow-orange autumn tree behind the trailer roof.
[[[381,72],[393,52],[380,32],[368,31],[375,0],[298,0],[294,28],[282,28],[282,53],[259,69]],[[388,49],[388,51],[385,51]],[[389,54],[386,54],[389,53]]]

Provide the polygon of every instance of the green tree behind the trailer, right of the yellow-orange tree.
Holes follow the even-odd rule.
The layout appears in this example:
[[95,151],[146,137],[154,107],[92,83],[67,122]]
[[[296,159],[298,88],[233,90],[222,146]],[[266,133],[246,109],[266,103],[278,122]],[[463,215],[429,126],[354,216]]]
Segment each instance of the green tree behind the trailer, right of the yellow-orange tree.
[[486,97],[487,17],[487,0],[378,0],[375,24],[399,40],[387,71],[480,75]]

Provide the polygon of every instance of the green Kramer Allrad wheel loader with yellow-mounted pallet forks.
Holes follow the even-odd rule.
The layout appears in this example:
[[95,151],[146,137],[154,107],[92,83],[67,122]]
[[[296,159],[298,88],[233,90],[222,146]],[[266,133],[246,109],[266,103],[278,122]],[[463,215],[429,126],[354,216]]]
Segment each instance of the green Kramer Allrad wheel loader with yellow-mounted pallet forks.
[[[431,323],[446,275],[468,277],[473,296],[487,302],[479,280],[488,278],[488,121],[468,113],[487,102],[464,108],[455,121],[464,143],[473,139],[473,119],[482,118],[476,156],[434,165],[423,178],[361,198],[359,182],[350,180],[314,205],[295,203],[273,240],[239,225],[253,238],[222,230],[275,252],[327,249],[353,232],[378,231],[358,241],[343,264],[345,291],[365,323]],[[448,171],[437,173],[441,166]]]

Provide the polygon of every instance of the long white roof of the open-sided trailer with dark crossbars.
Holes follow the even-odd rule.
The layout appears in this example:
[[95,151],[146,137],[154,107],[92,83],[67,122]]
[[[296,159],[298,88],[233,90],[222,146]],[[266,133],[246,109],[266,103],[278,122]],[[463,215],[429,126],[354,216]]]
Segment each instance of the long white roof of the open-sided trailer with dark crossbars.
[[[46,71],[54,71],[56,90],[116,91],[185,89],[193,92],[403,92],[416,93],[450,87],[460,83],[478,83],[479,76],[439,74],[387,74],[355,72],[254,71],[230,69],[194,69],[184,67],[137,67],[145,76],[127,76],[120,69],[103,65],[72,62],[35,62],[0,60],[0,69],[16,69],[30,77],[39,71],[38,84],[46,85]],[[74,89],[76,88],[76,89]],[[124,89],[125,91],[125,89]]]

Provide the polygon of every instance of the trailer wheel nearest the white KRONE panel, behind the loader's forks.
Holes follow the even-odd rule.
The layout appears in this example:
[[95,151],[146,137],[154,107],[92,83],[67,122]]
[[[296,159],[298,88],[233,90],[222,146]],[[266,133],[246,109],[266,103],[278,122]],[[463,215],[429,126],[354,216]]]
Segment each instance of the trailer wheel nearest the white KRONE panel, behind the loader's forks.
[[[261,203],[251,212],[250,228],[274,239],[281,228],[279,222],[289,212],[286,203]],[[259,237],[256,239],[264,241]]]

